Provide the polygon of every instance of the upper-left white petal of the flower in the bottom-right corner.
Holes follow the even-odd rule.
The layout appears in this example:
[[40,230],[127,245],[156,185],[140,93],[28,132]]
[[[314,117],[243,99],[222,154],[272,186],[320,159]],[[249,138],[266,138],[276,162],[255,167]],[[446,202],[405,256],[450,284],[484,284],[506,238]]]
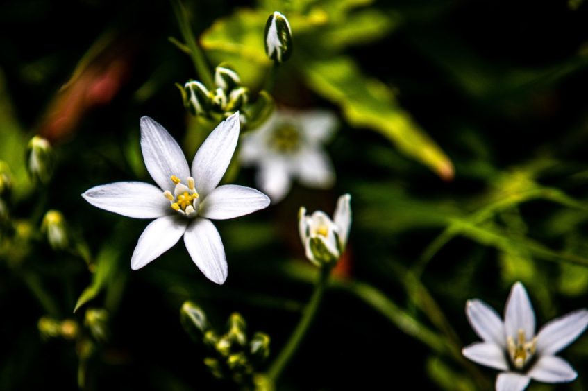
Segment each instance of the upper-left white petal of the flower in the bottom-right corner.
[[466,303],[466,315],[469,324],[482,340],[494,342],[503,349],[506,347],[504,324],[492,307],[482,302],[482,300],[468,300]]

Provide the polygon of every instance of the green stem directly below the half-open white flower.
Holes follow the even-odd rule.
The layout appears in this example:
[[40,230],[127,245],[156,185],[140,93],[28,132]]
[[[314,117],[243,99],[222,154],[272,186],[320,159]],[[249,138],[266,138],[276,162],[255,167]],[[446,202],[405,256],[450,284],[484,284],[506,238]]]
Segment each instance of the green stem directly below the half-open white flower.
[[317,309],[319,308],[319,304],[321,303],[321,299],[323,297],[323,293],[327,285],[330,270],[331,268],[328,267],[324,267],[321,269],[321,275],[319,277],[319,280],[317,281],[317,284],[314,286],[314,292],[312,292],[310,302],[308,302],[308,305],[304,310],[304,314],[302,315],[302,318],[298,326],[296,326],[296,329],[294,329],[294,332],[290,336],[285,347],[282,349],[282,351],[280,351],[280,354],[278,355],[276,360],[274,360],[274,363],[272,363],[271,367],[269,367],[267,376],[274,383],[276,383],[276,381],[280,377],[280,374],[282,374],[288,361],[296,353],[296,349],[298,349],[300,342],[302,342],[304,336],[306,335],[306,331],[308,331],[310,323],[314,319],[314,315],[317,313]]

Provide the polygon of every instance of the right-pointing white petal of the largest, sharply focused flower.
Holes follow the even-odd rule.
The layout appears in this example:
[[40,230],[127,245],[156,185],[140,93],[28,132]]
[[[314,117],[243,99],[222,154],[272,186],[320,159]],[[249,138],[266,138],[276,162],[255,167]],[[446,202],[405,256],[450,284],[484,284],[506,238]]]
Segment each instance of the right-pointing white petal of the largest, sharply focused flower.
[[235,218],[264,209],[269,198],[251,187],[226,184],[212,191],[201,203],[200,216],[212,220]]

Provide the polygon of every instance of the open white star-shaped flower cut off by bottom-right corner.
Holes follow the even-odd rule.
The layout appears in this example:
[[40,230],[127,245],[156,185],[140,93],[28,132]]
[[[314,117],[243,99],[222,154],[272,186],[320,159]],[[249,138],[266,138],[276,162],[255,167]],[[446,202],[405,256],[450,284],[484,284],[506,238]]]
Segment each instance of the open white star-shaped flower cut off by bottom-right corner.
[[535,335],[535,312],[520,282],[512,286],[505,306],[504,322],[490,306],[469,300],[466,314],[476,342],[462,354],[478,364],[503,371],[496,378],[497,391],[519,391],[531,379],[565,383],[576,379],[576,371],[557,352],[571,344],[588,326],[588,310],[573,311],[548,322]]

